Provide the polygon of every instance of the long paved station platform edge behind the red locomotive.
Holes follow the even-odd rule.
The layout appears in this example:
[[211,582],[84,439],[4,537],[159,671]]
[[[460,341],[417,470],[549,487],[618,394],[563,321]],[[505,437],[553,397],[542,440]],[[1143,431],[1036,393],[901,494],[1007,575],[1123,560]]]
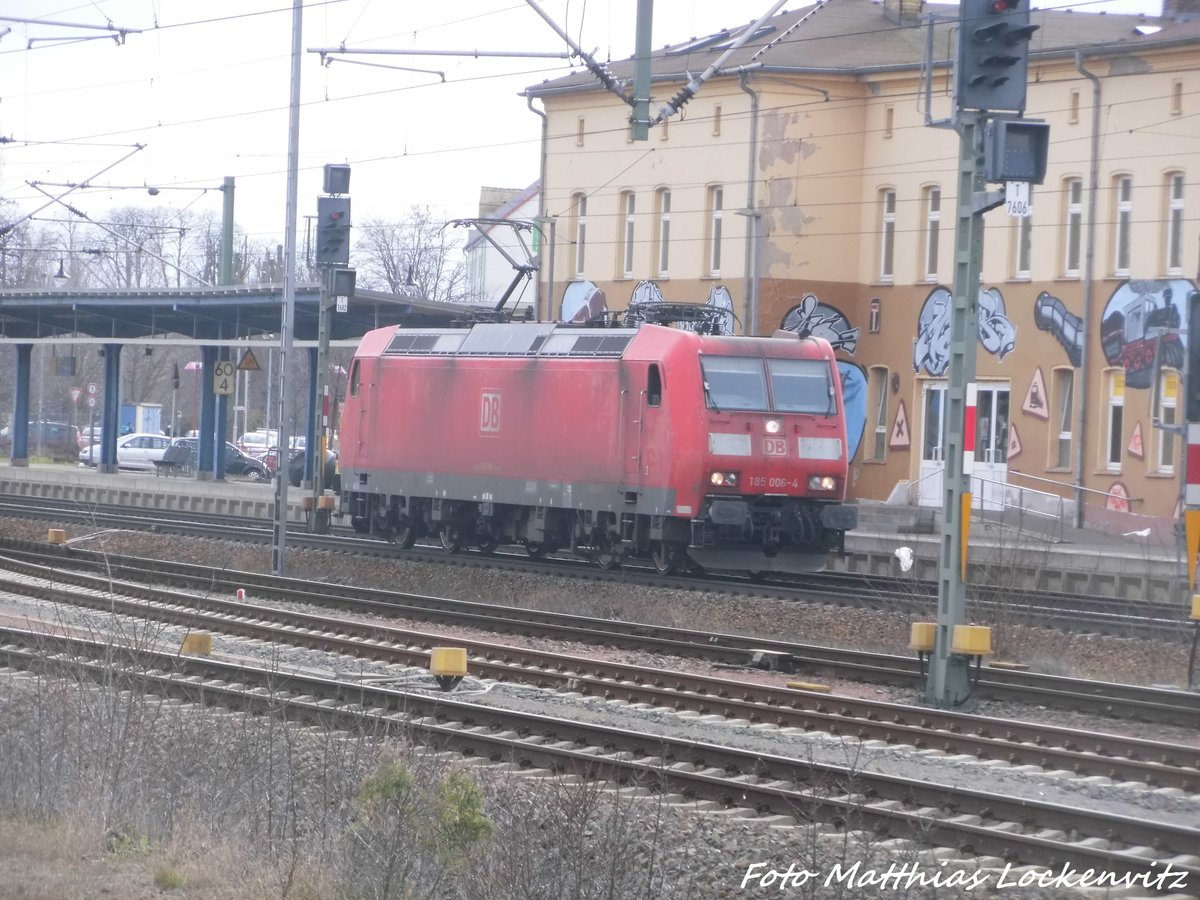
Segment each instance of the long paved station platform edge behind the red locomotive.
[[[0,464],[7,496],[88,504],[272,520],[275,484],[241,479],[199,481],[155,473],[101,473],[66,464]],[[305,521],[311,492],[288,487],[288,521]],[[919,515],[918,515],[919,512]],[[335,523],[337,520],[334,520]],[[846,554],[829,569],[863,575],[936,581],[942,544],[940,515],[883,503],[859,503],[859,527],[846,535]],[[899,551],[899,552],[898,552]],[[905,569],[902,562],[911,559]],[[1190,607],[1182,541],[1154,534],[1058,528],[1054,536],[1022,523],[972,518],[967,586],[1060,590]]]

